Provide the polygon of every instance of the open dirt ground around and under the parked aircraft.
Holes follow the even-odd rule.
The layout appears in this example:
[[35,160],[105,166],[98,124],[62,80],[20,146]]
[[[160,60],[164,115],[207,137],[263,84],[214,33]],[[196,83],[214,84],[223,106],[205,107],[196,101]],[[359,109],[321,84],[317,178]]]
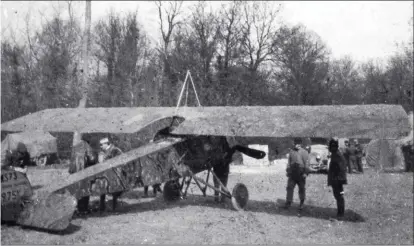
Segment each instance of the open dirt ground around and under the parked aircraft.
[[[413,244],[413,174],[381,173],[366,169],[348,176],[346,217],[332,221],[336,203],[326,175],[312,174],[307,181],[306,208],[297,216],[285,201],[284,165],[231,167],[228,187],[247,185],[248,209],[237,212],[231,203],[216,204],[203,197],[196,185],[189,196],[166,204],[162,196],[142,198],[142,188],[125,193],[121,206],[110,212],[74,217],[61,234],[2,226],[2,244]],[[64,178],[67,170],[30,170],[33,186]],[[151,192],[151,189],[150,189]],[[211,192],[210,192],[211,195]],[[96,201],[97,198],[94,198]]]

